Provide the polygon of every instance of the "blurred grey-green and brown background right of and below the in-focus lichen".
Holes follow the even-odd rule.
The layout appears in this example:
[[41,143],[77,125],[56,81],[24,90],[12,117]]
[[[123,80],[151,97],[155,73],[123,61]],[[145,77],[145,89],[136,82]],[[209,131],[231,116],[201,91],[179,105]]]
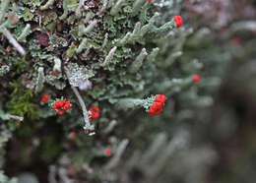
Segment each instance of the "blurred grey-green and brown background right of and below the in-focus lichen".
[[[183,17],[174,67],[197,67],[198,87],[173,94],[160,116],[120,113],[94,137],[64,137],[56,117],[29,121],[5,147],[6,175],[19,183],[256,182],[256,1],[153,4],[163,23]],[[180,64],[188,60],[198,64]]]

